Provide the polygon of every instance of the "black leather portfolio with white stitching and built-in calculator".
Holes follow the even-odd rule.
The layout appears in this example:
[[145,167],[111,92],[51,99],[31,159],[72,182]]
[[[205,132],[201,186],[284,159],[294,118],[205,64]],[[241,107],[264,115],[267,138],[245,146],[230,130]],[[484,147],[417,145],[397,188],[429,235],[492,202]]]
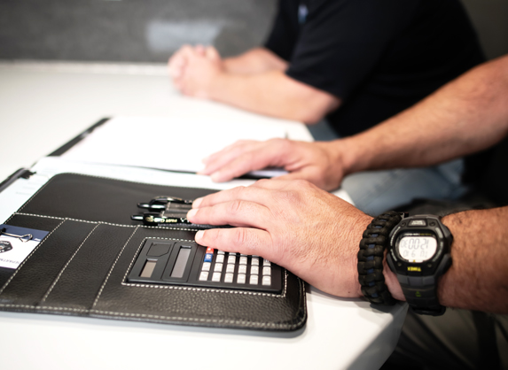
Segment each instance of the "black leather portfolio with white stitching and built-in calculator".
[[191,225],[131,220],[143,212],[137,204],[153,197],[195,199],[214,191],[54,176],[5,222],[48,234],[18,268],[1,269],[0,310],[301,328],[307,320],[304,284],[284,268],[258,256],[208,251],[194,242]]

